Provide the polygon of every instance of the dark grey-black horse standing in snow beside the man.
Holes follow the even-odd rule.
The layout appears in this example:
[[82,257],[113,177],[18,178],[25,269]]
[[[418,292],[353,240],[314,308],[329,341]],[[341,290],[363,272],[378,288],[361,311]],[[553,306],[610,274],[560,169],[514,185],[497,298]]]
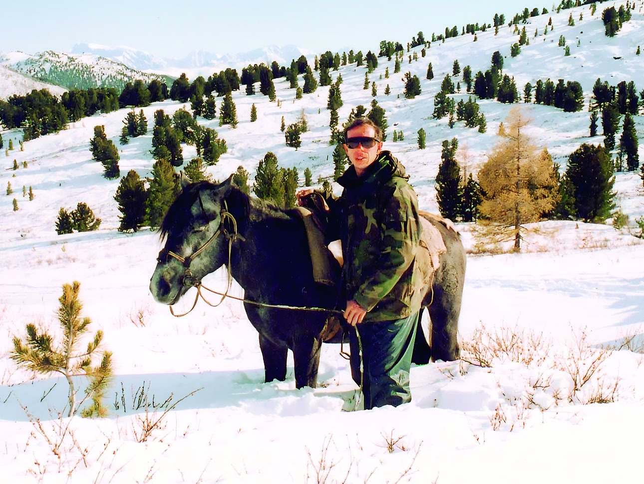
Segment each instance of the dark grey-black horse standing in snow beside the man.
[[[431,328],[417,330],[415,363],[452,361],[460,351],[457,324],[465,251],[456,231],[433,223],[446,251],[423,300]],[[160,236],[166,244],[150,280],[156,301],[174,305],[204,276],[226,265],[244,290],[246,314],[258,331],[265,381],[286,379],[290,349],[296,388],[316,387],[329,314],[292,308],[331,310],[337,289],[314,280],[307,233],[295,209],[283,210],[247,195],[232,183],[232,175],[220,184],[199,181],[185,184],[167,210]],[[339,264],[332,270],[338,280]]]

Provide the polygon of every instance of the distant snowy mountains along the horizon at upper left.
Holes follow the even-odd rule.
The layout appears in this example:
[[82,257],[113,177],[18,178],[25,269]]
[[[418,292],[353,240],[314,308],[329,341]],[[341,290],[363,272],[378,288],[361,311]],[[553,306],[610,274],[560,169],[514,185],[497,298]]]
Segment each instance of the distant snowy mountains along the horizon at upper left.
[[[290,66],[292,59],[314,53],[296,46],[268,46],[245,53],[218,55],[193,51],[183,58],[156,57],[129,47],[106,47],[76,44],[70,53],[43,51],[33,55],[23,52],[0,53],[0,98],[43,89],[46,84],[68,89],[117,87],[142,79],[149,83],[159,79],[168,85],[182,73],[189,79],[208,78],[227,67],[241,69],[249,64]],[[45,84],[43,84],[45,83]],[[52,91],[52,89],[50,89]],[[53,93],[53,91],[52,91]]]

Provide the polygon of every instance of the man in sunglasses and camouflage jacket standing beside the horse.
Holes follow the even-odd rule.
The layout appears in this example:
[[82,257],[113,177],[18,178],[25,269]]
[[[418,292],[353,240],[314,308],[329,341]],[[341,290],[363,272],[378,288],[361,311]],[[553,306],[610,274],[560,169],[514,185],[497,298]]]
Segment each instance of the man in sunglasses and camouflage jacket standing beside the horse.
[[411,400],[409,372],[422,300],[422,291],[415,290],[421,278],[415,264],[418,202],[403,165],[382,150],[377,125],[357,118],[344,134],[352,165],[337,179],[341,197],[327,200],[329,226],[337,229],[328,240],[342,242],[344,316],[359,335],[350,333],[352,373],[362,382],[365,409],[397,406]]

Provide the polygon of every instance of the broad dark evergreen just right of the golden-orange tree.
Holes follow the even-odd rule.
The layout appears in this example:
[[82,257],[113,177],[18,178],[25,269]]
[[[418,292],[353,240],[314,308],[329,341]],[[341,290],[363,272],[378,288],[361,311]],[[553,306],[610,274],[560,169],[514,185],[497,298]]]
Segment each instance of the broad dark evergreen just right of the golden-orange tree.
[[602,146],[581,145],[568,160],[566,177],[573,187],[574,215],[601,223],[615,208],[611,157]]

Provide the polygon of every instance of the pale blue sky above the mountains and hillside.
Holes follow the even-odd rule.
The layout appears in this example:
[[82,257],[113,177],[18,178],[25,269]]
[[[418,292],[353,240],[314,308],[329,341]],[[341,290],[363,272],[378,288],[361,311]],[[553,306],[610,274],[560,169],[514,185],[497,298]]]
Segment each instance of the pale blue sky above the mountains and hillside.
[[[3,2],[0,52],[70,51],[77,42],[129,46],[182,57],[196,49],[236,53],[294,44],[312,51],[377,49],[380,40],[406,44],[418,31],[511,19],[527,5],[517,0],[418,1],[196,1],[26,0]],[[24,22],[28,21],[28,25]]]

